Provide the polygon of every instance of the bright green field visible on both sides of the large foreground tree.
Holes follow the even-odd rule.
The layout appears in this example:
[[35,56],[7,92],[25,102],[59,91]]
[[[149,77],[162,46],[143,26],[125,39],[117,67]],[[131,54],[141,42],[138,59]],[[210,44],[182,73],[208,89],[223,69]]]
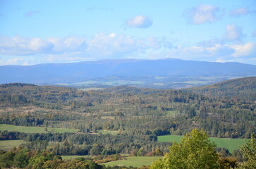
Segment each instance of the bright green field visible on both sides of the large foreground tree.
[[[158,142],[181,142],[183,136],[179,135],[165,135],[159,136]],[[209,138],[212,142],[217,144],[217,147],[224,147],[229,152],[233,152],[236,149],[240,149],[239,146],[245,144],[245,139],[224,139],[224,138]]]

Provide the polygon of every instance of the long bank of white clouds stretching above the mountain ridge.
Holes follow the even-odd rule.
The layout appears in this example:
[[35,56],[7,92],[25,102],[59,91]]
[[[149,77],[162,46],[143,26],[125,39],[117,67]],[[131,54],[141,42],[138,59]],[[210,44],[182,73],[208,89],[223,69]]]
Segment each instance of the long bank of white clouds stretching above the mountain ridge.
[[[63,63],[104,58],[181,58],[197,61],[252,60],[256,44],[225,44],[212,39],[190,46],[173,46],[169,39],[136,38],[116,33],[48,39],[0,37],[0,64]],[[246,63],[246,62],[245,62]]]

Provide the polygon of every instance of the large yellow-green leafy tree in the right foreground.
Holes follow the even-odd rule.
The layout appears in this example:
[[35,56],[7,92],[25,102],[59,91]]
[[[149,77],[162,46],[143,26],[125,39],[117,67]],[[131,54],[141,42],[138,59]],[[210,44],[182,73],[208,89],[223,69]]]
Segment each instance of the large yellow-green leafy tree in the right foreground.
[[215,147],[216,145],[209,141],[206,132],[194,129],[181,139],[181,143],[174,142],[169,148],[169,154],[155,161],[150,168],[219,168],[219,156],[214,151]]

